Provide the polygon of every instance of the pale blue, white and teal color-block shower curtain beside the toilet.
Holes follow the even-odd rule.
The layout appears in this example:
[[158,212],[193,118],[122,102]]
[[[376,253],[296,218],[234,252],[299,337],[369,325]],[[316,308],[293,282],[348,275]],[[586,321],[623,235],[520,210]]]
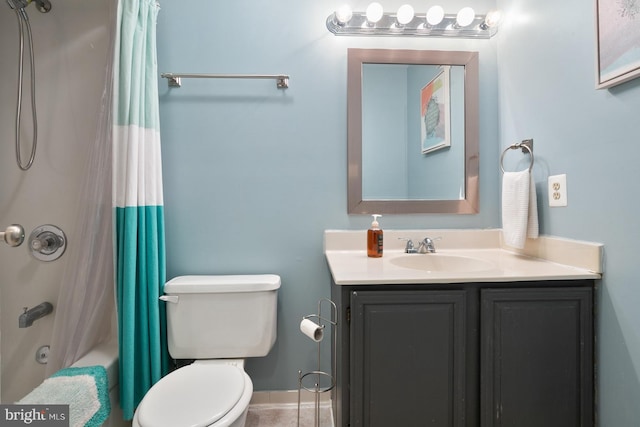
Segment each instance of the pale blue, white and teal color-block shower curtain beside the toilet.
[[120,0],[115,47],[113,196],[120,405],[131,419],[168,371],[156,17],[150,0]]

